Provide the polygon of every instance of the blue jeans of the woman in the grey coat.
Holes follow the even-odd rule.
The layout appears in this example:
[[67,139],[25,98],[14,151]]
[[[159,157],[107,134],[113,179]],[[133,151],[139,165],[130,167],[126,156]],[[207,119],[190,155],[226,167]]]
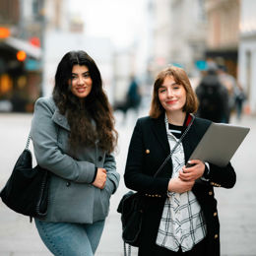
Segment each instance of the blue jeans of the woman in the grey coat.
[[38,233],[55,256],[93,256],[104,221],[94,224],[46,223],[34,219]]

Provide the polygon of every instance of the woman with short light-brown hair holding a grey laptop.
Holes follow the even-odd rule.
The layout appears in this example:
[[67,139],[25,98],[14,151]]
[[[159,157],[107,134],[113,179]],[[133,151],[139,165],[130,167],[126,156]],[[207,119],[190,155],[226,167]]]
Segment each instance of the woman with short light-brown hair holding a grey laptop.
[[[191,160],[192,166],[185,167],[212,123],[194,118],[196,110],[197,98],[185,71],[177,67],[161,71],[150,116],[139,118],[134,128],[124,174],[126,186],[143,196],[139,256],[220,255],[213,186],[231,188],[235,172],[230,162],[219,167]],[[154,177],[176,144],[171,160]]]

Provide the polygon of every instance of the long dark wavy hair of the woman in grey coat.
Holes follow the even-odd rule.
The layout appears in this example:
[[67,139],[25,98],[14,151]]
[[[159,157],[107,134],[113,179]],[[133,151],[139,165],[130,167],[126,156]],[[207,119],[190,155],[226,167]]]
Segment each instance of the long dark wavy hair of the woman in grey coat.
[[[69,87],[74,65],[86,66],[93,81],[92,91],[83,104]],[[96,62],[85,51],[70,51],[58,64],[55,86],[52,93],[61,114],[66,115],[70,125],[70,147],[93,147],[111,153],[117,145],[118,134],[114,129],[114,117],[107,96],[102,89],[102,80]]]

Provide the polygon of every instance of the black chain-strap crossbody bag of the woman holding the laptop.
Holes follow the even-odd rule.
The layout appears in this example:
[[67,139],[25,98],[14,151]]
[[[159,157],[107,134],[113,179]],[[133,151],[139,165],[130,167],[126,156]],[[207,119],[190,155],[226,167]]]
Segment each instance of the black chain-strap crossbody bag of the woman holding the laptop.
[[[176,150],[178,145],[181,143],[187,132],[189,131],[191,125],[194,122],[195,117],[192,115],[192,120],[187,126],[186,130],[177,141],[169,155],[160,164],[159,169],[154,174],[154,178],[160,173],[160,170],[165,166],[168,160],[170,160],[173,152]],[[121,214],[122,223],[122,238],[124,241],[124,256],[131,255],[131,246],[140,246],[140,233],[142,227],[143,219],[143,198],[142,194],[139,192],[129,191],[122,197],[117,212]],[[126,253],[126,244],[128,244],[128,254]]]

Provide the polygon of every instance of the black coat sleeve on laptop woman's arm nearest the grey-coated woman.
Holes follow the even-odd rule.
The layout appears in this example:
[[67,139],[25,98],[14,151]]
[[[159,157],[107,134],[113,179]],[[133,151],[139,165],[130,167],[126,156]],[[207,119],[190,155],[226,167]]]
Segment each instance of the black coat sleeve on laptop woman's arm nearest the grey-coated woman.
[[[166,194],[169,178],[156,177],[147,174],[145,167],[145,134],[143,122],[139,119],[130,141],[124,173],[125,185],[133,190],[149,194]],[[151,138],[147,138],[150,140]]]

